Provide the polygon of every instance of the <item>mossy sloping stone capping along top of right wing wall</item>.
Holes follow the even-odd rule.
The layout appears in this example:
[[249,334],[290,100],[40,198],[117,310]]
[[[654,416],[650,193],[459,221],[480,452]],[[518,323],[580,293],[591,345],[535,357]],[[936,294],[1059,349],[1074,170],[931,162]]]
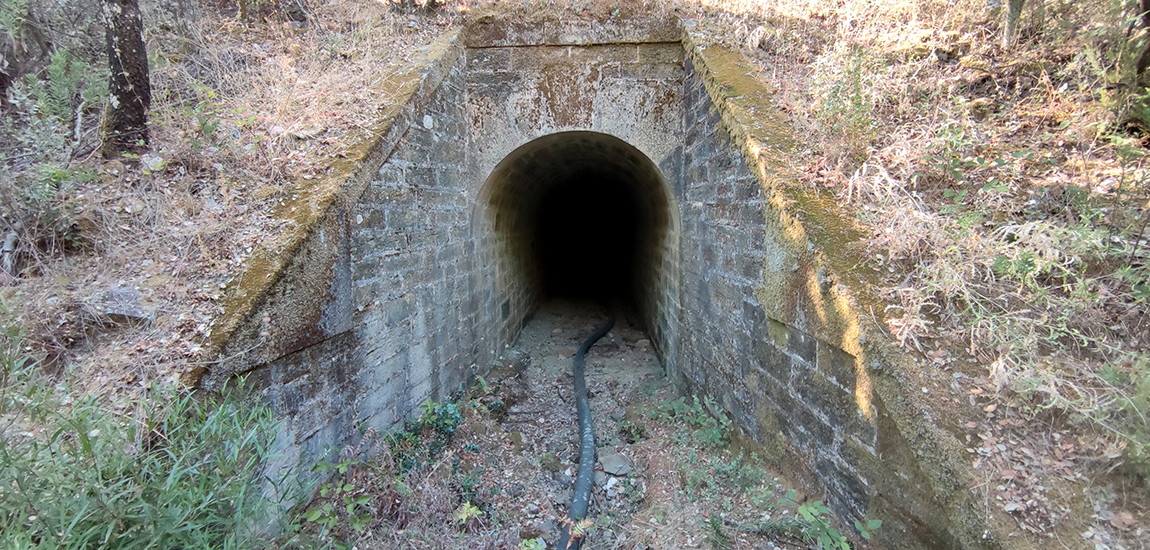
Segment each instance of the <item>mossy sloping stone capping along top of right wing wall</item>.
[[[797,226],[808,243],[815,240],[821,244],[823,239],[819,236],[858,238],[860,234],[850,229],[853,227],[852,222],[841,212],[827,207],[826,197],[820,197],[816,190],[802,186],[789,175],[791,170],[785,155],[796,145],[793,131],[785,122],[785,115],[773,104],[772,91],[750,76],[757,69],[742,53],[707,44],[689,20],[683,22],[682,41],[687,56],[695,64],[707,94],[720,112],[722,125],[759,179],[770,205],[767,208],[777,207],[780,216],[784,217],[783,223]],[[721,76],[719,68],[722,69]],[[825,212],[813,216],[796,215],[812,209]],[[813,262],[837,272],[837,277],[833,275],[836,284],[829,291],[852,306],[850,314],[857,316],[857,329],[852,334],[841,323],[834,322],[812,323],[807,328],[816,338],[838,343],[844,351],[857,357],[860,365],[868,366],[866,371],[872,379],[873,391],[882,399],[887,413],[914,450],[918,457],[915,461],[926,474],[938,503],[946,509],[945,515],[957,530],[952,535],[959,544],[963,548],[1002,548],[999,538],[1009,533],[998,529],[1002,524],[996,522],[995,528],[990,526],[989,521],[994,518],[988,518],[981,511],[977,495],[964,481],[972,479],[969,466],[960,460],[960,457],[965,457],[964,445],[951,433],[910,411],[906,399],[902,397],[914,395],[903,375],[919,366],[910,352],[898,349],[882,327],[862,314],[862,306],[875,311],[872,306],[882,304],[866,282],[867,278],[873,280],[873,275],[856,273],[859,281],[842,276],[848,270],[853,272],[852,267],[857,263],[857,259],[845,257],[846,250],[843,247],[836,246],[833,252],[815,247],[812,252],[815,257]],[[779,312],[777,303],[767,303],[761,293],[759,301],[768,316],[779,315],[781,321],[788,323],[795,321],[782,319],[791,315]],[[926,467],[928,465],[933,467]],[[897,498],[897,495],[892,497]],[[882,538],[881,530],[875,534]]]

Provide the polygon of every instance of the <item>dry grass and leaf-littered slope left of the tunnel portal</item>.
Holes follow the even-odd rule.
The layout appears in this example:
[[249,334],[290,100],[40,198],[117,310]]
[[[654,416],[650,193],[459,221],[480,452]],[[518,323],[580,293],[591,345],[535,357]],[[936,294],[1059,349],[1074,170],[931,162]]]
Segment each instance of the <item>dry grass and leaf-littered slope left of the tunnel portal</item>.
[[[366,135],[391,100],[382,84],[412,70],[406,53],[448,22],[367,1],[327,2],[310,21],[208,12],[182,35],[154,30],[152,153],[98,162],[41,151],[8,165],[26,177],[5,186],[6,205],[29,207],[3,213],[20,258],[3,298],[31,351],[67,362],[95,395],[177,380],[201,358],[221,289],[255,247],[274,246],[275,206]],[[92,176],[29,201],[33,161]],[[133,289],[147,319],[109,318],[116,288]]]

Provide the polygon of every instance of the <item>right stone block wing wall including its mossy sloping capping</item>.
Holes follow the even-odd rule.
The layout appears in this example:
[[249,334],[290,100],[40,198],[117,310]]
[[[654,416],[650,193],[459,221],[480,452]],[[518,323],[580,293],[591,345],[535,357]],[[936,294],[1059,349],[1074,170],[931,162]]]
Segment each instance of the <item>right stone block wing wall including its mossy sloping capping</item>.
[[[892,365],[894,354],[880,351],[889,344],[865,337],[851,290],[807,232],[837,222],[815,219],[822,214],[815,208],[803,211],[808,220],[800,222],[792,197],[802,196],[788,194],[787,182],[768,171],[779,168],[749,162],[747,150],[761,152],[770,144],[765,139],[784,133],[773,133],[769,100],[746,83],[752,69],[731,62],[736,55],[691,49],[684,62],[676,188],[682,307],[677,327],[673,321],[665,329],[680,335],[677,353],[664,361],[668,374],[688,392],[713,398],[774,467],[822,488],[814,498],[844,524],[881,518],[875,542],[882,547],[989,545],[980,522],[967,521],[972,509],[946,473],[954,463],[923,471],[929,444],[912,446],[903,434],[929,431],[884,405],[883,396],[903,400],[882,374]],[[706,74],[697,61],[708,64]],[[735,140],[746,130],[730,113],[747,107],[729,98],[758,99],[745,101],[761,109],[746,121],[761,132],[752,136],[757,142]]]

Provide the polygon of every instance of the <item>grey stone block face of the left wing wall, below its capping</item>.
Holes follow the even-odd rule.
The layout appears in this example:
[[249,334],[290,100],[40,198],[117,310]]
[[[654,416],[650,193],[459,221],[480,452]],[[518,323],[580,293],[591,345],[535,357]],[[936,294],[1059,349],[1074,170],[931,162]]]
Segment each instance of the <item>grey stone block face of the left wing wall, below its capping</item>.
[[343,331],[253,372],[286,419],[283,458],[305,484],[309,465],[386,431],[428,399],[458,392],[498,351],[498,308],[477,281],[467,166],[461,51],[358,201],[339,216],[343,242],[330,300]]

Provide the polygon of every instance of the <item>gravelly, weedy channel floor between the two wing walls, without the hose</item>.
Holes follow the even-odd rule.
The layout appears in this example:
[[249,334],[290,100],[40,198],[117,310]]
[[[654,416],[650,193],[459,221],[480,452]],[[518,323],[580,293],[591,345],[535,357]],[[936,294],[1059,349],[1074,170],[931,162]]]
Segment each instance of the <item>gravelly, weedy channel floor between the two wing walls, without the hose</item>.
[[[555,548],[577,471],[572,358],[606,319],[591,304],[542,306],[485,387],[460,399],[462,422],[442,452],[404,472],[402,453],[379,438],[381,458],[339,478],[353,487],[343,496],[360,501],[352,515],[365,530],[352,528],[348,501],[336,495],[328,501],[339,514],[334,529],[309,525],[305,536],[359,549]],[[737,441],[715,441],[719,430],[691,398],[670,412],[680,396],[646,335],[618,318],[588,354],[586,381],[598,464],[595,525],[582,548],[790,547],[762,533],[793,513],[780,505],[777,474]],[[424,428],[419,437],[434,434]]]

